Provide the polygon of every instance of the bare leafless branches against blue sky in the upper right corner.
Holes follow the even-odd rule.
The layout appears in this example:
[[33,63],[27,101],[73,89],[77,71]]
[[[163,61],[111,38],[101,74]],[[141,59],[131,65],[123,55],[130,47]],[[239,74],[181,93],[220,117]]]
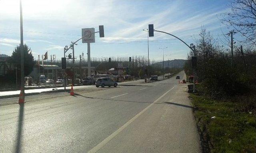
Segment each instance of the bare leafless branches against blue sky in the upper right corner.
[[231,11],[222,14],[222,23],[238,31],[242,43],[256,47],[256,0],[233,0]]

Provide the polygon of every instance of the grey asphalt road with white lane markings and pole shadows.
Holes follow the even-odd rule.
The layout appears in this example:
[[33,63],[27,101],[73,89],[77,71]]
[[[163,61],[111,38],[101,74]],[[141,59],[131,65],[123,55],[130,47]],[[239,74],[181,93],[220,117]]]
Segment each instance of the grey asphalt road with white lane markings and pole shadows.
[[186,85],[177,82],[39,94],[23,105],[1,99],[0,152],[198,153]]

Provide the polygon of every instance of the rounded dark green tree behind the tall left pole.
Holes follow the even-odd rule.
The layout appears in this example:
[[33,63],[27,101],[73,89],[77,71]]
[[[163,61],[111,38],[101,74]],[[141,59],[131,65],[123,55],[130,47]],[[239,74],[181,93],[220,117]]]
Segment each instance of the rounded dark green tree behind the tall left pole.
[[[20,69],[20,45],[17,45],[15,47],[14,51],[12,52],[12,56],[10,57],[10,62],[17,65],[18,69]],[[31,49],[28,47],[28,45],[24,44],[23,46],[24,51],[24,75],[28,76],[35,65],[34,57],[31,53]]]

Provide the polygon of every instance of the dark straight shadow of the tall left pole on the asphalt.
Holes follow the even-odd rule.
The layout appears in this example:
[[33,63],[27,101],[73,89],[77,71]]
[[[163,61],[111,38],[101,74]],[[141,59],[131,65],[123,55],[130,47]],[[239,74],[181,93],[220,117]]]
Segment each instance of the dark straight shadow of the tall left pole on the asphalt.
[[24,104],[19,104],[19,105],[20,105],[20,111],[19,111],[18,131],[17,131],[16,146],[15,146],[16,153],[20,153],[22,133],[23,133],[22,124],[23,124],[23,116],[24,116]]

